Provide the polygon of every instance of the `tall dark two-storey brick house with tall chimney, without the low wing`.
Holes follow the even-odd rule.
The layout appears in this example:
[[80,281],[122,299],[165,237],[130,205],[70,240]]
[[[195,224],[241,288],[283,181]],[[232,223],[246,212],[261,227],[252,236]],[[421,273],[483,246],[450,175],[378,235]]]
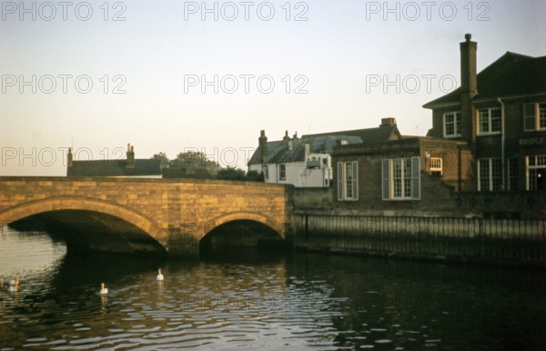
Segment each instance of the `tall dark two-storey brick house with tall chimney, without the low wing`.
[[461,86],[423,105],[429,135],[468,143],[476,190],[537,190],[546,176],[546,56],[507,52],[477,75],[477,44],[465,38]]

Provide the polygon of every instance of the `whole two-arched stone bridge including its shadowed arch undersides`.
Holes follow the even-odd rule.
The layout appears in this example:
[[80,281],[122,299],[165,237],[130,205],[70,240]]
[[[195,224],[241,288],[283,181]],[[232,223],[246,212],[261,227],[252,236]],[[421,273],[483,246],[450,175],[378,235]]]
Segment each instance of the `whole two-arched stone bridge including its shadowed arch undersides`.
[[[4,176],[0,228],[27,219],[68,249],[197,257],[205,238],[284,239],[288,197],[286,186],[250,182]],[[245,234],[229,234],[237,228]]]

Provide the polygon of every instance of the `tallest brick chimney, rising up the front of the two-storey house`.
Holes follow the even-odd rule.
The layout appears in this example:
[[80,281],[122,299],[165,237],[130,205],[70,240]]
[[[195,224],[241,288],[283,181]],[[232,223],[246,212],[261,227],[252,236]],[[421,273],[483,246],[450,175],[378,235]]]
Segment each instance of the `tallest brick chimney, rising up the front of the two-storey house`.
[[464,35],[460,43],[460,118],[462,138],[473,144],[476,139],[476,113],[471,99],[478,94],[476,51],[478,44],[470,41],[472,35]]

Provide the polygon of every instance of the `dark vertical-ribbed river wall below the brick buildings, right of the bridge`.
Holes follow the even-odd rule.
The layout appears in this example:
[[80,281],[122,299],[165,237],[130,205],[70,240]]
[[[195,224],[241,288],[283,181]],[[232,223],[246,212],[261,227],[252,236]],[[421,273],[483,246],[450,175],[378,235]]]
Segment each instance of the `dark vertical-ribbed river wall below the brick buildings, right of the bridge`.
[[296,249],[546,267],[546,221],[293,215]]

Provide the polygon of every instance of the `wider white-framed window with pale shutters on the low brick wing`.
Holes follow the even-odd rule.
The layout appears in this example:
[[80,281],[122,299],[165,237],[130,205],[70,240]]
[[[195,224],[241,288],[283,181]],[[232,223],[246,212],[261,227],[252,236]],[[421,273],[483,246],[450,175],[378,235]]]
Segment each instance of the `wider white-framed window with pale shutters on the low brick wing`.
[[381,161],[383,200],[420,199],[420,157]]

